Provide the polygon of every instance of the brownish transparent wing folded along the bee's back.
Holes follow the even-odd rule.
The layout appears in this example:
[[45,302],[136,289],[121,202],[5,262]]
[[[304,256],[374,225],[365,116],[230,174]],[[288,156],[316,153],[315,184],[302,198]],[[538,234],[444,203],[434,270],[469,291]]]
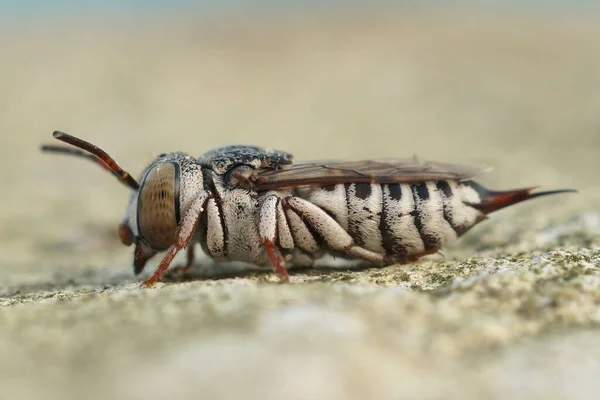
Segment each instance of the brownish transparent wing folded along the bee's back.
[[446,164],[415,159],[325,161],[258,170],[251,178],[257,190],[337,183],[412,183],[465,180],[488,171],[485,166]]

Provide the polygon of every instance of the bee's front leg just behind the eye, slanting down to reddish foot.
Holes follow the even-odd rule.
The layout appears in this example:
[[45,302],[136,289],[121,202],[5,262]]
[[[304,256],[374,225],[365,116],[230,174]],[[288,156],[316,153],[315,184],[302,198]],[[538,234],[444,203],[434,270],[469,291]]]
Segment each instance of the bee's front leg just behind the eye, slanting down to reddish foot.
[[196,227],[198,226],[198,221],[200,220],[200,215],[204,210],[204,204],[206,200],[208,200],[209,193],[202,192],[202,194],[196,197],[190,207],[187,209],[183,217],[181,218],[181,222],[177,227],[177,232],[175,234],[175,243],[169,247],[167,250],[167,254],[165,254],[164,258],[152,274],[152,276],[146,279],[141,283],[140,287],[151,287],[156,282],[160,281],[169,269],[173,258],[175,255],[183,248],[190,245],[190,241],[194,237],[194,233],[196,231]]

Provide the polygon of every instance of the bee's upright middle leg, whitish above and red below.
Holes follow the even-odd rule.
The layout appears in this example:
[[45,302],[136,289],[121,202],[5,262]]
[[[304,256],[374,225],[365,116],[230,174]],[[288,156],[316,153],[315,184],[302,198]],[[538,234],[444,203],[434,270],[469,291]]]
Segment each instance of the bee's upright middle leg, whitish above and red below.
[[285,259],[279,248],[275,245],[277,241],[277,213],[281,207],[281,199],[277,196],[267,196],[260,208],[259,233],[260,240],[265,247],[267,255],[271,260],[273,271],[279,277],[281,283],[289,282],[290,278],[285,267]]

